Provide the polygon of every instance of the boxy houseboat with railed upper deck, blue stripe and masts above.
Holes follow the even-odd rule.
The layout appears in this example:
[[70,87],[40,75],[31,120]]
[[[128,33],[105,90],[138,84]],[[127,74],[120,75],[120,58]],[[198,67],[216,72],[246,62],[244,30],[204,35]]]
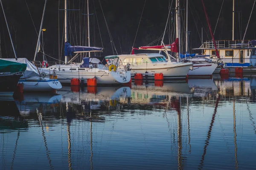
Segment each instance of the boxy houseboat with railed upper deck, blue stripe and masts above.
[[[250,13],[252,15],[253,7]],[[218,48],[219,56],[225,63],[226,68],[229,72],[235,72],[236,68],[242,68],[243,72],[256,72],[256,58],[251,55],[251,49],[256,46],[256,40],[245,40],[246,31],[249,25],[250,17],[247,23],[247,28],[244,32],[242,40],[235,40],[235,26],[234,26],[234,15],[235,15],[235,0],[233,0],[233,28],[232,28],[232,40],[218,40],[216,41],[216,47]],[[215,45],[213,40],[205,41],[199,48],[193,48],[193,50],[201,50],[204,55],[215,58],[217,53],[215,52]]]

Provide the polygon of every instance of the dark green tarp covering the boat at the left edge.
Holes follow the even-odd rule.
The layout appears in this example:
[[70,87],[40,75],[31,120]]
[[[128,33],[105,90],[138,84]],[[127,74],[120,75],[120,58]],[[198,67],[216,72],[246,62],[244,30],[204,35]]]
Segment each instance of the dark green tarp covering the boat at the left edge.
[[26,64],[0,59],[0,73],[2,72],[17,73],[25,70],[26,70]]

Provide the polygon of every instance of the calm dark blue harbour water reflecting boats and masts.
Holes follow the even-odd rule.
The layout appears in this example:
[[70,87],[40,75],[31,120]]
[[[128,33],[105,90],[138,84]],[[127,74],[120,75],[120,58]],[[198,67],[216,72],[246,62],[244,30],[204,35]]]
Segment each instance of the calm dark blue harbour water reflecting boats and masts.
[[256,77],[136,84],[1,99],[0,170],[255,169]]

